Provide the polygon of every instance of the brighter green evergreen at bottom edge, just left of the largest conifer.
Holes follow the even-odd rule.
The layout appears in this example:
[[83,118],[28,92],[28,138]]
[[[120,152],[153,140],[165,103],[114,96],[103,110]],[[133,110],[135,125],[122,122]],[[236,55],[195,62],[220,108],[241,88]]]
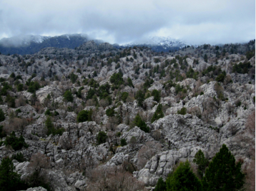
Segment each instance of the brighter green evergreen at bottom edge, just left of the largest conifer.
[[192,172],[189,162],[180,162],[177,169],[167,177],[167,191],[202,191],[202,183]]

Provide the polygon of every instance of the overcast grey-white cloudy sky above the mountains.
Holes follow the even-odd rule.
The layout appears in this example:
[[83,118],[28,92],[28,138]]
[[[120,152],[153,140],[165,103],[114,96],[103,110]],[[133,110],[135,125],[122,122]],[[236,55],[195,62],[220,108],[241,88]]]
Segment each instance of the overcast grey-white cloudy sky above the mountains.
[[109,43],[169,36],[192,43],[255,39],[255,0],[1,0],[0,38],[87,33]]

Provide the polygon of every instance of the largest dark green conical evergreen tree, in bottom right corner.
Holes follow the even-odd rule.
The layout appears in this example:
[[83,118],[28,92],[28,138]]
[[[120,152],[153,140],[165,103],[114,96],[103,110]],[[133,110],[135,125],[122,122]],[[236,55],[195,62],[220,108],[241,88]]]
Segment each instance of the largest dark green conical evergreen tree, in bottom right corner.
[[235,164],[235,158],[226,145],[215,155],[206,169],[202,185],[204,190],[239,190],[244,184],[245,175],[241,172],[241,163]]

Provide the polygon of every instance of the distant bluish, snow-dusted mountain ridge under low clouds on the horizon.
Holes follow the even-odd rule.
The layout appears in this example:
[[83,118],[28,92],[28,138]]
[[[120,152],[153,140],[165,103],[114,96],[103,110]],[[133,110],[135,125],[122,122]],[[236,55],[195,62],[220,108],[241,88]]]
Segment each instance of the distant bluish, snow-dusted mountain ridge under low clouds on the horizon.
[[[97,44],[105,41],[90,38],[87,34],[63,34],[61,36],[39,36],[24,35],[14,36],[11,38],[2,38],[0,40],[0,52],[4,54],[32,54],[40,51],[42,48],[76,48],[87,41],[93,40]],[[127,48],[132,46],[147,46],[157,52],[177,51],[189,44],[169,37],[152,36],[145,38],[144,41],[134,41],[132,43],[117,44],[112,46],[115,48]]]

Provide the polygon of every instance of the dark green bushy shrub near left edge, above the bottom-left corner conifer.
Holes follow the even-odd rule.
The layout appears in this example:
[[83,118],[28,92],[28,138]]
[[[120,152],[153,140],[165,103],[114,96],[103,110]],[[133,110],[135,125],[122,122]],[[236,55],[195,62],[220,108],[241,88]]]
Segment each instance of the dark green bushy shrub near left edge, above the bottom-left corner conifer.
[[11,133],[11,135],[6,137],[6,140],[4,141],[5,145],[11,145],[11,147],[14,150],[21,150],[21,148],[28,148],[29,145],[26,144],[23,136],[21,135],[19,138],[16,137],[14,131]]

